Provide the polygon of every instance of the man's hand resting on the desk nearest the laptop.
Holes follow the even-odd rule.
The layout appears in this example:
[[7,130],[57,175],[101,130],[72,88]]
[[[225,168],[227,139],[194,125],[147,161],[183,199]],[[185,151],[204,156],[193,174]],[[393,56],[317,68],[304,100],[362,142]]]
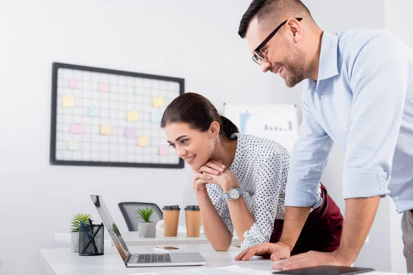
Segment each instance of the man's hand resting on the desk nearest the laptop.
[[290,248],[282,242],[262,243],[260,245],[255,245],[252,248],[247,248],[235,256],[235,261],[248,261],[252,256],[266,256],[268,254],[271,255],[270,259],[272,261],[287,259],[290,256]]

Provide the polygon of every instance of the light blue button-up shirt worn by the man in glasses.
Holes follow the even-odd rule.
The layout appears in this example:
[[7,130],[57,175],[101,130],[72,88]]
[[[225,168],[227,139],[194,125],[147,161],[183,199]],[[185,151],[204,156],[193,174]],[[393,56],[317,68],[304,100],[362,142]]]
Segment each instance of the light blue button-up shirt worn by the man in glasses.
[[324,32],[318,80],[305,80],[286,206],[321,204],[335,142],[346,152],[344,199],[389,194],[398,212],[413,209],[412,79],[413,51],[388,32]]

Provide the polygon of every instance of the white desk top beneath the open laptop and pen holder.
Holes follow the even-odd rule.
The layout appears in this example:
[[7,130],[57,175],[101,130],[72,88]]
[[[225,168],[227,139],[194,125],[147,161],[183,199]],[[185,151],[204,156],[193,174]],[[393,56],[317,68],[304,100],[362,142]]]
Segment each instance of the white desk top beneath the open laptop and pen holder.
[[[120,255],[115,248],[105,249],[103,256],[78,256],[70,252],[68,248],[43,249],[40,251],[40,259],[43,266],[50,275],[122,275],[138,274],[145,272],[165,272],[171,270],[193,270],[199,268],[224,267],[238,265],[240,267],[252,268],[254,270],[271,271],[273,262],[256,258],[253,261],[234,261],[234,256],[240,253],[240,248],[231,247],[227,252],[215,252],[209,244],[180,245],[185,252],[200,252],[207,265],[202,267],[125,267]],[[131,246],[131,253],[156,253],[153,246]]]

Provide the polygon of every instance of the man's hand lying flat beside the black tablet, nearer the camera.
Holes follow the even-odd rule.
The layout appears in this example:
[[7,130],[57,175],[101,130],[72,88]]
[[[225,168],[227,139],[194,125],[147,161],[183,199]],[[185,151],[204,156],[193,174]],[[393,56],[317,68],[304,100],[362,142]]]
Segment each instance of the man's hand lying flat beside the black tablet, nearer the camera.
[[350,265],[344,263],[336,252],[315,252],[291,256],[289,259],[273,265],[274,270],[295,270],[303,267],[313,267],[318,265]]

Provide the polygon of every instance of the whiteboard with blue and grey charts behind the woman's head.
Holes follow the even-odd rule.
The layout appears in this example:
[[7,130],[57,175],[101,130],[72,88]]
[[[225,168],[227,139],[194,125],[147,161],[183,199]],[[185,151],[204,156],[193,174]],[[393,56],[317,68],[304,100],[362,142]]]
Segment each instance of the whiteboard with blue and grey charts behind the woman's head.
[[224,116],[240,133],[275,140],[291,153],[299,137],[299,118],[294,104],[224,104]]

